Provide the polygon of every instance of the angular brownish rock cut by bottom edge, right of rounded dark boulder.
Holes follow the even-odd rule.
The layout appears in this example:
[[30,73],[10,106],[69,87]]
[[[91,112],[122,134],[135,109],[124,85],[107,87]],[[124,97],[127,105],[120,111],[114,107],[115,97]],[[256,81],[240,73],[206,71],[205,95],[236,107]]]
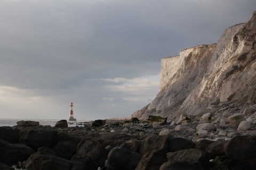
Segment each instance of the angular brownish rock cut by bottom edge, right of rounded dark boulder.
[[166,153],[159,152],[159,151],[149,151],[143,155],[143,157],[141,158],[135,170],[159,169],[160,166],[166,161],[167,161]]

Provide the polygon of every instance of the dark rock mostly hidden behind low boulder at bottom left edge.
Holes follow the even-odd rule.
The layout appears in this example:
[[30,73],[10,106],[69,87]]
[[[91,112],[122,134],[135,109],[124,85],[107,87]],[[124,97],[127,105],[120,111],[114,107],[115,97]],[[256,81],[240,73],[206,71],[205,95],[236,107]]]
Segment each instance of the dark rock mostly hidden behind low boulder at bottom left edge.
[[32,157],[37,156],[37,155],[57,156],[57,154],[55,153],[55,151],[53,149],[50,149],[48,147],[38,148],[37,152],[30,155],[30,157],[26,160],[26,162],[25,162],[26,170],[33,170]]

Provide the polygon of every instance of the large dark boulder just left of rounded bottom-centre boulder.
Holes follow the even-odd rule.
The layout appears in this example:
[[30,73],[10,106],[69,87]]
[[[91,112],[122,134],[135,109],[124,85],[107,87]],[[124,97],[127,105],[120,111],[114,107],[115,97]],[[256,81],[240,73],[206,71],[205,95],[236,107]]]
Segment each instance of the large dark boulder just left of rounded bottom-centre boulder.
[[108,151],[98,141],[82,140],[77,145],[76,156],[91,157],[97,166],[102,167],[108,157]]

